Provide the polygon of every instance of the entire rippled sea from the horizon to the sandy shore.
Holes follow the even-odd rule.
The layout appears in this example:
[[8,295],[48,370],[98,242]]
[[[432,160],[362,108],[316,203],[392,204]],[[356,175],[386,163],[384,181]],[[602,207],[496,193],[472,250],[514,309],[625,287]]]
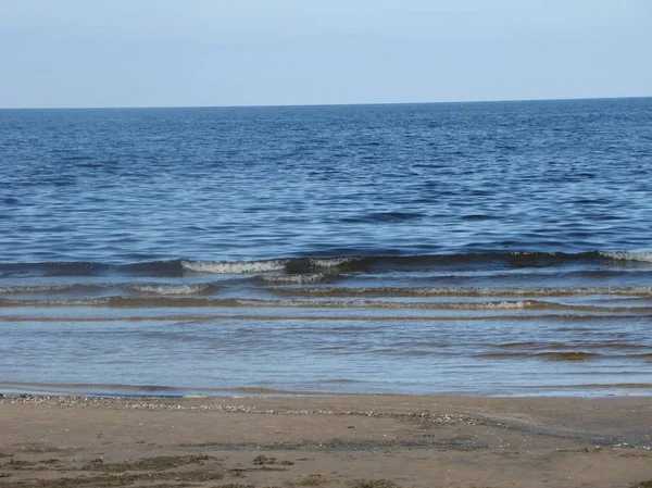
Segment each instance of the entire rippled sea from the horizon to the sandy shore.
[[652,98],[0,110],[0,392],[652,395]]

